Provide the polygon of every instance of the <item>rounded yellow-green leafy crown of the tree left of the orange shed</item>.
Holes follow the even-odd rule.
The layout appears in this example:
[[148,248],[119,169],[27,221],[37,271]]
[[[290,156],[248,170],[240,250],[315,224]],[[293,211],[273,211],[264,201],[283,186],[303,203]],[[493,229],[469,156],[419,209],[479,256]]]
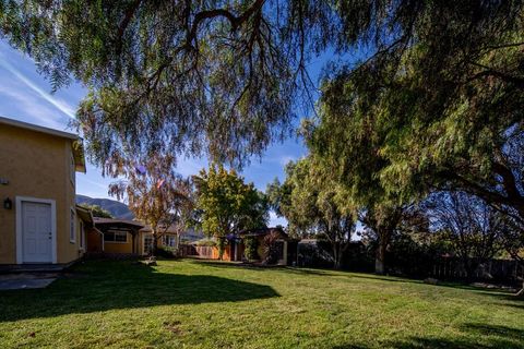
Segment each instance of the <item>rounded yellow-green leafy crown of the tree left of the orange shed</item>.
[[235,170],[212,165],[193,178],[196,209],[201,210],[202,230],[210,237],[225,237],[245,229],[262,228],[269,219],[265,197],[246,184]]

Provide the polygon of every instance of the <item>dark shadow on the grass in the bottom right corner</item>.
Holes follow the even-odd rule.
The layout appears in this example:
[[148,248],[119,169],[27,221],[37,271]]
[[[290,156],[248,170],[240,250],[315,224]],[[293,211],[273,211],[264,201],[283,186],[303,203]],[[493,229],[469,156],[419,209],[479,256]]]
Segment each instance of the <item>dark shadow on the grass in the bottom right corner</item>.
[[[388,340],[381,345],[382,348],[394,349],[419,349],[419,348],[442,348],[442,349],[523,349],[524,329],[512,328],[502,325],[488,324],[464,324],[458,327],[461,335],[456,337],[417,337],[410,336],[406,339]],[[334,346],[332,349],[371,348],[361,345],[347,344]]]

